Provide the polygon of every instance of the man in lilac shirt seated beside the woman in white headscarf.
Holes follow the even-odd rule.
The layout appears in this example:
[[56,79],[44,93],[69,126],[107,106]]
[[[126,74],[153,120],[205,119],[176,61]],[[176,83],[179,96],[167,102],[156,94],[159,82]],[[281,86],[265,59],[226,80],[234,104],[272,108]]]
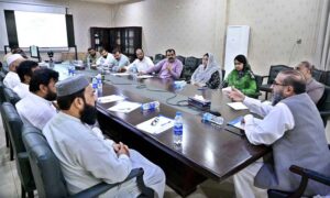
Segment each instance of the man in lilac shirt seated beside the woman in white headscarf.
[[179,79],[184,68],[183,63],[176,59],[175,51],[173,48],[166,51],[166,59],[161,61],[154,67],[147,69],[146,72],[141,72],[139,74],[143,75],[158,72],[158,76],[161,78]]

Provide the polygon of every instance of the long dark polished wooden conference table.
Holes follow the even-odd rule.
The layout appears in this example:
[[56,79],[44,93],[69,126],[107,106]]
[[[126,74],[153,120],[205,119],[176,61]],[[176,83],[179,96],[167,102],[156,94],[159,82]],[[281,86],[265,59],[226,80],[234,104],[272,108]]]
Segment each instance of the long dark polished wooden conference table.
[[[61,76],[67,73],[65,67],[57,66],[55,70],[58,70]],[[77,73],[92,77],[98,72]],[[130,113],[108,110],[120,101],[97,102],[98,122],[106,135],[116,142],[128,144],[161,166],[165,172],[167,185],[184,197],[195,191],[206,179],[222,182],[271,152],[270,147],[252,145],[242,131],[227,125],[228,121],[249,111],[230,108],[227,103],[232,101],[220,90],[199,89],[193,85],[177,89],[172,79],[136,79],[131,75],[108,74],[102,96],[110,95],[124,96],[125,100],[140,103],[160,101],[160,108],[154,111],[144,112],[139,108]],[[201,122],[204,111],[187,106],[188,97],[195,95],[211,100],[211,110],[221,113],[224,119],[223,125]],[[174,145],[173,129],[150,134],[136,128],[136,124],[160,114],[174,119],[177,111],[183,112],[182,146]]]

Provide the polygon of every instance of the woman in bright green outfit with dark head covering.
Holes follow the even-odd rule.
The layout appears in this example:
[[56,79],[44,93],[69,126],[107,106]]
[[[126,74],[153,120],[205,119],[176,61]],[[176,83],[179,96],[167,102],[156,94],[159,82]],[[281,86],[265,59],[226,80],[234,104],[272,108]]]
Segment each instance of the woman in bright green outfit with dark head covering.
[[228,75],[224,85],[232,86],[246,96],[256,94],[256,82],[251,66],[244,55],[238,55],[234,58],[235,68]]

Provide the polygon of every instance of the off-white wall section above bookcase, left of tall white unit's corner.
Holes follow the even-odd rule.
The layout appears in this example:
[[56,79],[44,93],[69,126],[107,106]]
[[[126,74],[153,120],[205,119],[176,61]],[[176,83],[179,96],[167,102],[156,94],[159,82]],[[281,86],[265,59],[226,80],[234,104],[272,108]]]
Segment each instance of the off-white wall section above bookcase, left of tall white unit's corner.
[[147,0],[114,6],[112,13],[116,26],[143,28],[146,54],[173,47],[178,55],[201,57],[211,52],[222,58],[226,1]]

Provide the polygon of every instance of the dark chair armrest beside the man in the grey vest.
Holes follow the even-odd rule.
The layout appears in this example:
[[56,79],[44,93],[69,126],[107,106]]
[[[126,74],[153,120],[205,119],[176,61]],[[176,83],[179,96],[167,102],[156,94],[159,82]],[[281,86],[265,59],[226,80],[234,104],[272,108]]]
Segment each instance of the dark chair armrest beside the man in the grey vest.
[[300,175],[302,178],[309,178],[319,183],[322,183],[324,185],[330,186],[330,177],[320,174],[318,172],[311,170],[311,169],[307,169],[307,168],[301,168],[299,166],[296,165],[292,165],[290,166],[290,172]]

